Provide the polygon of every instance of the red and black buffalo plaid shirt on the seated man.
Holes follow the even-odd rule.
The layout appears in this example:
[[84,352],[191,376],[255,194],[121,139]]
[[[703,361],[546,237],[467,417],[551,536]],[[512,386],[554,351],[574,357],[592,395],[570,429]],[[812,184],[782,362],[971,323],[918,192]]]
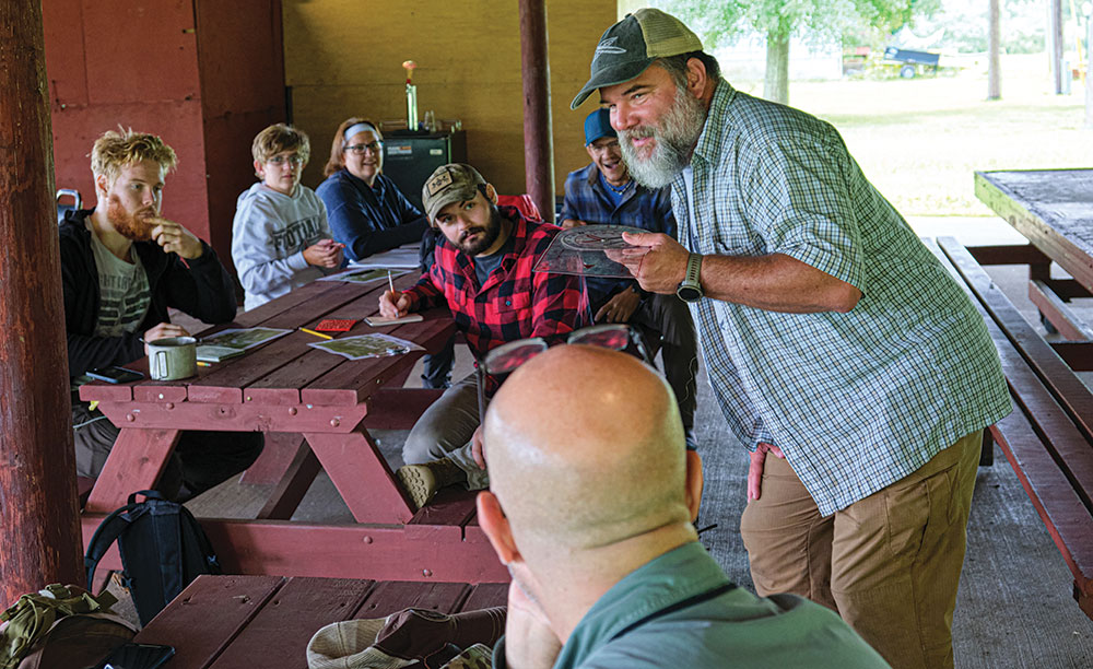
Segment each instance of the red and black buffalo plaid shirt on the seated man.
[[500,210],[513,223],[513,250],[484,285],[478,284],[474,258],[442,236],[433,266],[406,293],[411,312],[447,301],[478,360],[509,341],[571,332],[585,325],[588,310],[579,277],[531,271],[562,228],[528,221],[515,207]]

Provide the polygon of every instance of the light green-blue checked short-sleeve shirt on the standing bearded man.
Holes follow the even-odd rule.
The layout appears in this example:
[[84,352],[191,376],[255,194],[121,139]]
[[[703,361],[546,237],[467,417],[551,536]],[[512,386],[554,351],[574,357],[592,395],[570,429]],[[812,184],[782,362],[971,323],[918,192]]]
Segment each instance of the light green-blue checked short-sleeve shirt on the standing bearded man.
[[689,250],[785,254],[862,293],[847,314],[692,305],[730,430],[781,448],[821,513],[1010,412],[983,317],[833,127],[720,81],[691,168],[693,193],[672,185]]

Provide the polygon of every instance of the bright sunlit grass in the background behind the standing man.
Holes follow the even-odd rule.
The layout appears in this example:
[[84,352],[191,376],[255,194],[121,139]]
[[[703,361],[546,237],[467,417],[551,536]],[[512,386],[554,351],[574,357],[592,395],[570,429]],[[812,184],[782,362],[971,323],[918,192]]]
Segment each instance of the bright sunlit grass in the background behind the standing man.
[[[759,82],[731,82],[762,94]],[[1002,60],[1002,99],[985,72],[914,80],[792,82],[790,104],[832,122],[866,176],[906,216],[994,215],[973,173],[1093,166],[1085,95],[1049,90],[1044,56]],[[1091,185],[1093,190],[1093,185]]]

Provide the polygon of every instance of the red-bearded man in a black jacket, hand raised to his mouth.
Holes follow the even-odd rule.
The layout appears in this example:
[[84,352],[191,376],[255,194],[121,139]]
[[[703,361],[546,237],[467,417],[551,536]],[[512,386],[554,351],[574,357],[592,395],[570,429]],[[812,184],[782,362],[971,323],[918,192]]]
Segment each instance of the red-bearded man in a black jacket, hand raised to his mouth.
[[[167,308],[204,322],[235,317],[235,286],[215,251],[160,215],[164,179],[176,163],[153,134],[103,133],[91,154],[95,209],[69,212],[59,227],[77,473],[97,477],[118,435],[75,389],[86,372],[129,364],[144,341],[184,337]],[[158,489],[185,500],[246,469],[260,433],[185,432]]]

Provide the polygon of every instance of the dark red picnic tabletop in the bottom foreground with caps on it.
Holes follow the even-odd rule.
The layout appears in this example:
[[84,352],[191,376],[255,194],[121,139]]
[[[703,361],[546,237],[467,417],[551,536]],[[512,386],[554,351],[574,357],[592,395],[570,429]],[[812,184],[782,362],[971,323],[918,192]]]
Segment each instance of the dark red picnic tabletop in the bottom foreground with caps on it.
[[171,669],[306,669],[324,625],[414,607],[458,613],[505,605],[507,584],[199,576],[137,635],[175,648]]

